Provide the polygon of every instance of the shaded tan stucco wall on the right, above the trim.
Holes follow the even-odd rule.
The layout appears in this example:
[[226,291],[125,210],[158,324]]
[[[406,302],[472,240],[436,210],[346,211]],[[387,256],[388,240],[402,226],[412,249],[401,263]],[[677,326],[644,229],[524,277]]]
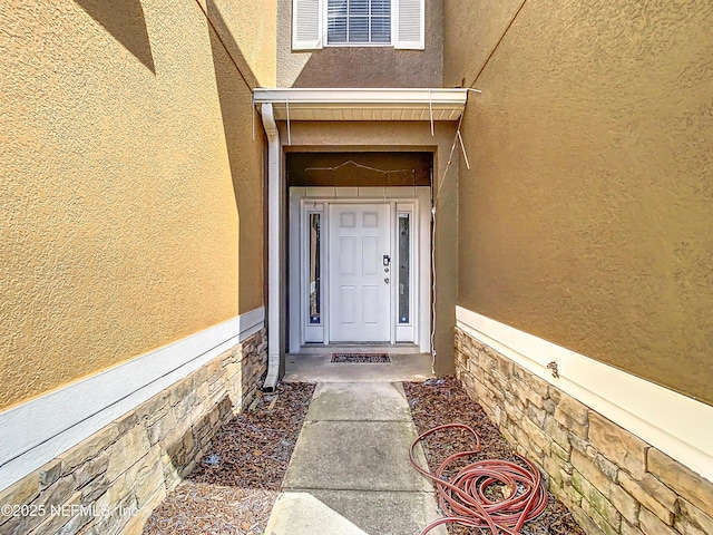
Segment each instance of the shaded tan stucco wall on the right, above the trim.
[[[521,2],[478,3],[446,85]],[[460,305],[713,403],[712,49],[710,2],[525,2],[463,123]]]

